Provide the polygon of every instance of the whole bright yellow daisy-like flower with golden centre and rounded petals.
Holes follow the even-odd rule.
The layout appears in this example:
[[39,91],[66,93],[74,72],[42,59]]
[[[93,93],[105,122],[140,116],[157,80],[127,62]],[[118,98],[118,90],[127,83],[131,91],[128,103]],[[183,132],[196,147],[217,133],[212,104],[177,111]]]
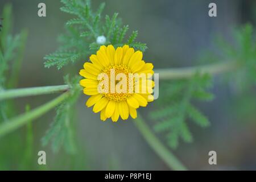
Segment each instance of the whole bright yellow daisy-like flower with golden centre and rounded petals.
[[[93,111],[101,112],[102,121],[112,118],[116,122],[119,116],[125,120],[129,115],[136,118],[136,109],[154,100],[153,65],[145,63],[142,56],[141,51],[135,52],[127,45],[117,49],[101,46],[96,55],[90,56],[91,63],[85,63],[80,70],[79,74],[85,77],[80,85],[84,94],[90,96],[86,106],[94,105]],[[140,77],[143,74],[146,76]]]

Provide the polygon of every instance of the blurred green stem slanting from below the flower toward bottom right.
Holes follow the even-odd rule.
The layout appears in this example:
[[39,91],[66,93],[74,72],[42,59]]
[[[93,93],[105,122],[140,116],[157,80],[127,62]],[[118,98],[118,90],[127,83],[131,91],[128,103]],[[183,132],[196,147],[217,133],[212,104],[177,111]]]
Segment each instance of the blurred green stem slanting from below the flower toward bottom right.
[[147,143],[150,144],[152,149],[167,163],[168,167],[174,170],[187,170],[183,164],[175,157],[170,150],[168,150],[162,142],[152,133],[147,124],[143,121],[142,117],[138,114],[137,119],[135,119],[135,126],[146,139]]

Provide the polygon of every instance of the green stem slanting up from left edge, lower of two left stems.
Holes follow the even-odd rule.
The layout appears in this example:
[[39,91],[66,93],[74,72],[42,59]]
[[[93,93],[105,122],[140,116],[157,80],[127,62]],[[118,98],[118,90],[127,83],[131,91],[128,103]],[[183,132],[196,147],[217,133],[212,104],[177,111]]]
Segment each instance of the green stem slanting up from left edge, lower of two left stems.
[[21,114],[18,117],[10,119],[8,122],[1,123],[0,138],[3,137],[3,135],[10,133],[11,131],[14,131],[15,129],[18,129],[20,126],[23,126],[30,121],[35,121],[36,118],[39,118],[41,115],[43,115],[47,111],[56,107],[57,105],[59,105],[62,101],[64,101],[68,97],[69,97],[69,92],[66,92],[64,94],[61,94],[61,96],[55,98],[54,100],[49,101],[46,104],[39,106],[36,109],[31,110],[28,113]]

